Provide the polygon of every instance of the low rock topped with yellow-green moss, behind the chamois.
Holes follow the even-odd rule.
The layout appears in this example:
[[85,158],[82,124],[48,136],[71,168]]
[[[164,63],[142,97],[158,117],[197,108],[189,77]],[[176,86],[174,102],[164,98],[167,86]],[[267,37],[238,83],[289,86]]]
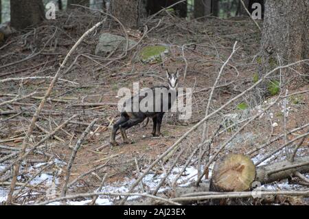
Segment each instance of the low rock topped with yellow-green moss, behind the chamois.
[[153,45],[147,46],[141,49],[139,57],[141,58],[142,62],[148,62],[152,60],[161,60],[161,54],[168,51],[168,47],[163,45]]

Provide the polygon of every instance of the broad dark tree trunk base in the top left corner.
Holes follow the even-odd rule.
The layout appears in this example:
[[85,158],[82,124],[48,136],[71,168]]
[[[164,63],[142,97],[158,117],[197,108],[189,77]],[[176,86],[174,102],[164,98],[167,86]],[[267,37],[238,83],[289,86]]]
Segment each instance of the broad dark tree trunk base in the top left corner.
[[42,0],[10,1],[11,25],[16,30],[22,30],[32,25],[38,25],[44,19]]

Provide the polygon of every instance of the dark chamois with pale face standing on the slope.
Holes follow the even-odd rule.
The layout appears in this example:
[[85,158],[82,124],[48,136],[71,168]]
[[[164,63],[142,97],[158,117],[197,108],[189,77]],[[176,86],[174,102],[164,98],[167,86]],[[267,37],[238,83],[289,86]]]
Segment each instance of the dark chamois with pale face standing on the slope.
[[[124,102],[121,117],[113,125],[111,131],[110,143],[113,146],[117,146],[115,135],[118,129],[120,129],[124,143],[129,143],[126,130],[143,122],[146,118],[152,118],[152,135],[156,137],[161,135],[160,129],[163,115],[170,110],[177,97],[179,69],[176,70],[176,73],[169,73],[168,70],[165,70],[165,73],[168,78],[168,87],[156,86],[144,89],[144,91],[139,91],[138,95],[134,95]],[[139,107],[141,102],[147,103],[144,108]],[[136,108],[137,110],[135,110]]]

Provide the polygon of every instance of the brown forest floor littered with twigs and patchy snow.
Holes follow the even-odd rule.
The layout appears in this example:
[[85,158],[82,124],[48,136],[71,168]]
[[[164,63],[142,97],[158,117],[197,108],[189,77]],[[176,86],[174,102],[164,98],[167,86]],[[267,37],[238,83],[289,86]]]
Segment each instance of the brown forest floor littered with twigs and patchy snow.
[[[85,16],[87,19],[85,19]],[[102,17],[98,14],[85,13],[83,10],[62,12],[56,21],[46,21],[36,29],[12,34],[0,45],[0,80],[54,76],[60,62],[73,44],[100,19]],[[159,23],[159,19],[161,19],[161,23]],[[107,185],[114,187],[113,192],[126,191],[132,180],[139,175],[137,165],[139,171],[145,170],[152,161],[172,146],[176,139],[179,139],[196,122],[203,119],[211,87],[222,63],[231,54],[235,41],[238,41],[240,48],[231,58],[230,65],[227,65],[220,79],[218,85],[222,86],[214,92],[210,111],[214,111],[254,83],[254,76],[258,72],[260,31],[250,19],[209,18],[204,22],[187,21],[166,12],[163,16],[148,22],[148,30],[152,27],[154,29],[145,38],[141,38],[142,34],[135,30],[127,32],[130,39],[134,41],[141,39],[141,41],[124,58],[119,58],[121,52],[115,52],[110,58],[93,56],[100,32],[124,35],[121,28],[118,26],[110,27],[109,25],[104,25],[104,27],[98,29],[98,32],[91,34],[73,53],[67,66],[69,69],[65,70],[65,73],[60,76],[61,79],[69,80],[69,82],[63,80],[57,82],[36,123],[41,128],[36,127],[30,139],[33,143],[36,143],[42,136],[46,135],[46,132],[54,130],[65,119],[74,114],[78,114],[78,116],[69,125],[57,132],[53,139],[45,142],[47,143],[47,150],[44,150],[43,153],[38,152],[30,155],[27,161],[23,163],[23,174],[19,178],[20,183],[31,178],[43,163],[53,161],[52,165],[49,165],[39,175],[41,179],[36,178],[34,183],[36,186],[27,187],[26,195],[21,195],[18,203],[45,200],[47,188],[50,189],[52,185],[55,185],[55,191],[59,192],[58,189],[60,188],[57,185],[61,185],[65,176],[65,163],[71,157],[71,148],[76,145],[81,133],[94,118],[99,118],[98,122],[78,150],[70,179],[72,181],[80,174],[99,165],[102,165],[102,168],[78,180],[76,185],[70,188],[70,193],[91,192],[97,189],[105,174],[108,174],[106,187]],[[194,91],[192,117],[181,122],[172,113],[167,113],[161,128],[163,136],[152,137],[150,134],[152,122],[150,121],[146,127],[135,126],[127,131],[128,137],[133,140],[133,143],[124,144],[121,137],[117,135],[116,139],[120,144],[117,147],[112,147],[108,144],[108,139],[111,132],[111,122],[119,118],[117,106],[114,105],[119,100],[118,89],[128,87],[132,90],[133,82],[139,82],[140,87],[166,84],[162,62],[144,63],[136,59],[143,47],[158,44],[168,45],[169,47],[169,53],[163,58],[163,65],[170,71],[175,71],[177,68],[181,69],[179,86],[192,88]],[[195,46],[192,47],[192,44]],[[19,62],[19,60],[23,61]],[[187,76],[183,78],[185,69]],[[16,95],[23,96],[36,91],[36,94],[32,97],[0,106],[0,146],[21,147],[30,119],[41,102],[49,82],[50,80],[38,78],[36,80],[0,82],[1,102],[11,100]],[[308,90],[308,85],[289,90],[288,93],[306,90]],[[241,100],[233,102],[218,115],[212,117],[207,122],[207,137],[211,137],[220,124],[227,125],[227,118],[236,115],[236,117],[246,119],[256,115],[277,97],[277,95],[274,95],[267,100],[262,100],[257,96],[256,93],[244,95]],[[309,115],[308,93],[299,93],[287,100],[286,130],[307,124]],[[246,103],[245,109],[238,108],[242,102]],[[284,132],[283,102],[283,99],[279,100],[269,111],[244,128],[222,154],[227,152],[246,153],[252,150],[254,146],[267,142],[271,137],[282,134]],[[88,106],[86,106],[87,104]],[[211,154],[223,141],[231,137],[235,130],[229,129],[216,138],[211,145]],[[177,163],[177,168],[181,168],[194,147],[201,142],[202,132],[202,127],[198,128],[181,143],[179,151],[182,149],[184,151]],[[288,140],[302,132],[300,130],[293,135],[288,135]],[[308,145],[308,141],[308,138],[304,141],[298,155],[309,154],[308,147],[305,147]],[[268,150],[271,151],[279,147],[282,143],[281,140],[276,141],[270,148],[251,154],[253,161],[257,160],[261,154],[267,153]],[[0,158],[10,154],[10,151],[3,149],[1,153]],[[177,153],[174,154],[175,157],[176,155]],[[282,152],[271,157],[267,162],[279,159],[284,159]],[[8,163],[0,163],[0,170]],[[144,182],[146,190],[153,189],[162,174],[168,170],[169,165],[170,163],[165,163],[165,165],[153,169],[152,176],[149,176],[148,181]],[[196,168],[197,159],[195,157],[190,163],[187,174],[184,174],[181,181],[177,182],[183,184],[193,181],[196,177]],[[42,174],[45,174],[46,177],[43,177]],[[165,187],[169,186],[168,183],[165,184]],[[297,188],[299,188],[299,185],[293,187],[293,189]],[[0,196],[2,191],[5,197],[7,189],[8,187],[3,185],[0,189]],[[276,189],[282,188],[278,186]],[[49,197],[54,195],[55,192],[49,191]],[[102,204],[112,203],[111,200],[110,202],[105,201],[104,199]],[[289,203],[289,200],[278,202],[295,204],[295,202]],[[306,199],[297,199],[297,204],[306,203],[308,204]]]

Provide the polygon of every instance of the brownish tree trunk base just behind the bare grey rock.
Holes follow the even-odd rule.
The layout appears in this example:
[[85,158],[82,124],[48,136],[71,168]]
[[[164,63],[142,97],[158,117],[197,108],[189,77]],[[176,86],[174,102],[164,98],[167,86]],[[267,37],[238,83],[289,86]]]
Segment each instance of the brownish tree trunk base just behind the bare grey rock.
[[125,27],[137,28],[139,23],[139,0],[113,0],[112,14]]

